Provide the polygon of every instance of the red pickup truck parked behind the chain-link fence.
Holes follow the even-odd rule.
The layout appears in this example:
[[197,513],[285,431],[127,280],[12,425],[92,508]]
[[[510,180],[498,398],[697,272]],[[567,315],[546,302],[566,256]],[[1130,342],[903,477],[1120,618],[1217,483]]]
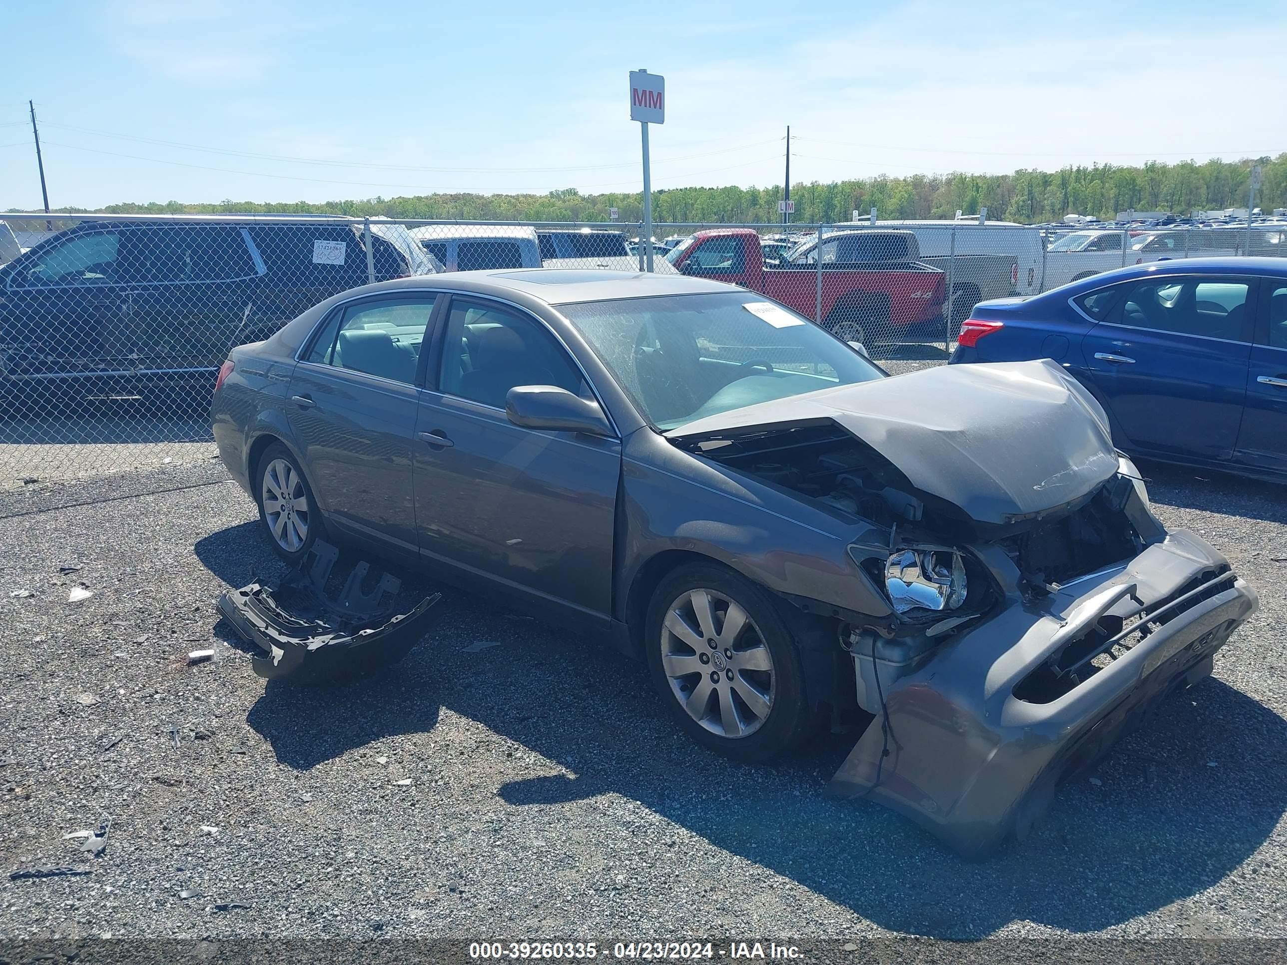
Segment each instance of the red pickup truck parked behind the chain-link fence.
[[[667,255],[681,274],[740,284],[781,302],[846,340],[901,341],[936,319],[945,274],[921,264],[911,232],[847,232],[822,238],[822,300],[817,302],[817,246],[807,261],[766,268],[749,228],[698,232]],[[821,308],[821,311],[819,309]]]

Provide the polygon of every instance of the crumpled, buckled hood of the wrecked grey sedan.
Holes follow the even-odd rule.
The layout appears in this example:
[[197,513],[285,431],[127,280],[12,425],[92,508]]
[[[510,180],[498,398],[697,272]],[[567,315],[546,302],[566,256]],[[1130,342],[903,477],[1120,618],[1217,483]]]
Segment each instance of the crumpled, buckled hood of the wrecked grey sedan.
[[819,419],[979,522],[1051,510],[1117,471],[1104,410],[1050,360],[940,365],[748,405],[665,435],[694,443]]

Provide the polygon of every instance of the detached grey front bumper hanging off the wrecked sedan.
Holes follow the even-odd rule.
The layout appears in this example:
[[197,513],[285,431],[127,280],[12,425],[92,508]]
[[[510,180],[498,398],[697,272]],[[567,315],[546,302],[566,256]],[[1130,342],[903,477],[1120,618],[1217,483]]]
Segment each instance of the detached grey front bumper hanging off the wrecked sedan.
[[1010,601],[884,687],[884,713],[829,791],[884,804],[965,856],[1022,839],[1062,778],[1207,677],[1256,606],[1255,591],[1184,530],[1041,606]]

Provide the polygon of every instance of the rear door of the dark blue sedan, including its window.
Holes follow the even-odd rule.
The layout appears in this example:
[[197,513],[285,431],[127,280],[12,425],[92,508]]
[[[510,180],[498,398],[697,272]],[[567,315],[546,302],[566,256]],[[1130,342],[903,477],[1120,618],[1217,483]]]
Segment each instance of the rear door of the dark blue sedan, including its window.
[[1246,398],[1255,279],[1134,282],[1081,344],[1085,369],[1125,434],[1162,457],[1228,459]]

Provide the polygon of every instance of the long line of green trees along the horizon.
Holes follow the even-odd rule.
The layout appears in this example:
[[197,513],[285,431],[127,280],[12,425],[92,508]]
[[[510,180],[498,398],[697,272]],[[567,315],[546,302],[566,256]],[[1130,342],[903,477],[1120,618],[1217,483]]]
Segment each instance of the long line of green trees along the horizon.
[[[793,221],[847,221],[871,207],[882,219],[954,217],[986,207],[990,219],[1024,224],[1059,221],[1064,215],[1116,217],[1118,211],[1166,211],[1187,216],[1199,210],[1246,207],[1251,169],[1261,165],[1256,206],[1287,207],[1287,153],[1259,160],[1211,160],[1203,163],[1148,161],[1140,166],[1069,166],[1058,171],[1021,169],[1013,174],[911,175],[792,185]],[[771,224],[781,220],[781,185],[766,188],[672,188],[653,193],[654,221],[680,224]],[[462,219],[497,221],[607,221],[642,219],[640,193],[582,194],[575,188],[548,194],[422,194],[364,201],[265,203],[227,199],[218,203],[120,203],[99,214],[331,214],[382,215],[393,219]],[[66,214],[85,208],[59,208]]]

